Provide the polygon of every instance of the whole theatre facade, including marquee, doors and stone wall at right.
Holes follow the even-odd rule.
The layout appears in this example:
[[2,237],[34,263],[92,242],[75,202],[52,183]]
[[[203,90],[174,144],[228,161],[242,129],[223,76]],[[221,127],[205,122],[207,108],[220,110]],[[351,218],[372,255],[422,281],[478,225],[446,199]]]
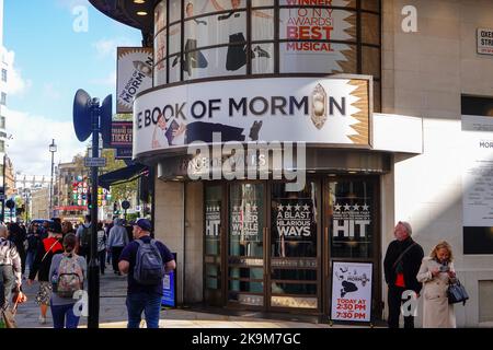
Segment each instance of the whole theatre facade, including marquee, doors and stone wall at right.
[[153,51],[133,156],[179,303],[385,319],[404,220],[452,245],[458,325],[493,323],[493,3],[91,2]]

